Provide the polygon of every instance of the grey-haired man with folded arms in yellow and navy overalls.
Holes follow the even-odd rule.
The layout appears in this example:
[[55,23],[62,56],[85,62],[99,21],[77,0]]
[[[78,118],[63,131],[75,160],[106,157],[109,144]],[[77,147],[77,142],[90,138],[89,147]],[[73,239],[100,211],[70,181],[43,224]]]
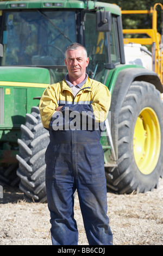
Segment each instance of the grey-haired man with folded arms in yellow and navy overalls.
[[50,135],[45,161],[52,243],[78,244],[73,211],[77,190],[89,245],[112,245],[100,143],[111,95],[106,86],[87,76],[85,47],[68,46],[65,64],[66,78],[49,86],[40,100],[42,124]]

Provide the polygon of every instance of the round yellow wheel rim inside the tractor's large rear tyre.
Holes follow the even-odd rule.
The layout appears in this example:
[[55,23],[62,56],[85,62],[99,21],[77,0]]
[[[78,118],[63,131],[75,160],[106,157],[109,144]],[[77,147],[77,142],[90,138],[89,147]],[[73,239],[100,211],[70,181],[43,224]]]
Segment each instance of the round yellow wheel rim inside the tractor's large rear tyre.
[[143,108],[136,120],[133,146],[140,172],[152,173],[160,155],[161,130],[159,119],[150,107]]

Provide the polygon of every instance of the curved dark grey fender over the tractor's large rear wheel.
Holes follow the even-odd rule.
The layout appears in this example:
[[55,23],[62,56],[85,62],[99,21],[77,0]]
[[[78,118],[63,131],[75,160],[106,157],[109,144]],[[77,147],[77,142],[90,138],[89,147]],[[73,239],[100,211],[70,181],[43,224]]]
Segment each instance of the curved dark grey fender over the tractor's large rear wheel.
[[119,72],[111,96],[111,136],[114,144],[116,157],[118,156],[118,116],[121,111],[122,103],[126,97],[130,84],[134,81],[145,81],[154,84],[155,88],[163,93],[163,87],[159,76],[143,68],[127,68]]

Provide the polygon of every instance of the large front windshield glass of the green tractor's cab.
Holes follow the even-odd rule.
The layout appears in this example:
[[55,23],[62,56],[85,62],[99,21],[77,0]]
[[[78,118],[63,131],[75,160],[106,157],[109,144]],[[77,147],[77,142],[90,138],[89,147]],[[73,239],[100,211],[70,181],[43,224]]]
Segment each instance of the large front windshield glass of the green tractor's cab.
[[65,50],[77,40],[74,11],[5,13],[1,65],[65,65]]

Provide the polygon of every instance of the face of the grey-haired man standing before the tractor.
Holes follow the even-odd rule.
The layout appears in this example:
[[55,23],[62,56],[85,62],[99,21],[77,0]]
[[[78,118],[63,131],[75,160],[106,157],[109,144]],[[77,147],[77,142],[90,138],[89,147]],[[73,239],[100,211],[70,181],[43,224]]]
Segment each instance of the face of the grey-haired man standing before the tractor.
[[76,50],[68,50],[65,64],[68,70],[68,76],[74,79],[85,78],[86,67],[89,64],[89,58],[86,58],[84,49],[78,47]]

